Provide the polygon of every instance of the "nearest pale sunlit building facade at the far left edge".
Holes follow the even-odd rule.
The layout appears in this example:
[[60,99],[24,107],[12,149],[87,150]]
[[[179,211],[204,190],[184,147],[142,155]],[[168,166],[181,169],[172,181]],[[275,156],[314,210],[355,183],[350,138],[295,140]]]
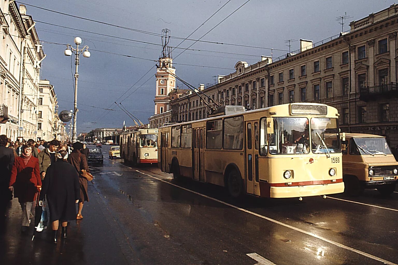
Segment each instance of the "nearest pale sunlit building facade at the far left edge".
[[[8,15],[9,14],[9,15]],[[45,58],[24,5],[0,4],[0,133],[36,139],[40,64]]]

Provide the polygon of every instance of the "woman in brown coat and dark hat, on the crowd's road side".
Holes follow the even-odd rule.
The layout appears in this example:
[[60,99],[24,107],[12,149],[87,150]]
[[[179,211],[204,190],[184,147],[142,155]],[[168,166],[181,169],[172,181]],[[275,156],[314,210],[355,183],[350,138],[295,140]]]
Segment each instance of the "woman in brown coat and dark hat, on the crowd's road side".
[[[68,157],[68,162],[74,166],[76,171],[79,173],[80,170],[85,169],[87,172],[90,171],[88,168],[87,164],[87,159],[86,156],[80,153],[80,149],[83,148],[83,144],[76,142],[72,145],[73,151],[70,153]],[[82,219],[82,209],[83,209],[83,204],[84,201],[88,201],[88,184],[87,180],[83,178],[79,174],[79,183],[80,183],[80,199],[79,199],[79,211],[78,214],[76,215],[76,219]]]

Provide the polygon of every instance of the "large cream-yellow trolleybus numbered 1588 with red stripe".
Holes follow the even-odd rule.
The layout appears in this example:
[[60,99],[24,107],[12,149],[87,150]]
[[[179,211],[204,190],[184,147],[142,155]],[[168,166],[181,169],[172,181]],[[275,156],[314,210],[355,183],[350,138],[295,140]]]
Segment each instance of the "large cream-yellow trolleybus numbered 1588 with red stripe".
[[158,165],[176,179],[224,186],[232,197],[341,193],[338,115],[324,104],[292,103],[164,126]]

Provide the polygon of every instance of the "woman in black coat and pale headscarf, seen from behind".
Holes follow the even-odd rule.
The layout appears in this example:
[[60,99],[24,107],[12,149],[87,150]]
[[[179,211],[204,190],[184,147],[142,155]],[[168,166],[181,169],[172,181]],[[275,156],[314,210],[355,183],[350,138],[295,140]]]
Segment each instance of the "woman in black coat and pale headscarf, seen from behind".
[[57,230],[61,222],[62,238],[66,238],[68,221],[76,219],[76,206],[80,198],[79,175],[74,166],[66,162],[68,153],[60,150],[56,153],[58,160],[47,168],[46,177],[40,193],[40,201],[47,195],[50,210],[54,243],[57,243]]

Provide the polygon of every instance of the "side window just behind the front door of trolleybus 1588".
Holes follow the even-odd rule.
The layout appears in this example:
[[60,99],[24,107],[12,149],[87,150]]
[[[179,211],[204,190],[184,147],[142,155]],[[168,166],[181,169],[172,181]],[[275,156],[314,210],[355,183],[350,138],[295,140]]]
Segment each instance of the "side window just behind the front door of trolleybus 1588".
[[243,116],[225,118],[224,149],[241,150],[243,148],[243,139]]

